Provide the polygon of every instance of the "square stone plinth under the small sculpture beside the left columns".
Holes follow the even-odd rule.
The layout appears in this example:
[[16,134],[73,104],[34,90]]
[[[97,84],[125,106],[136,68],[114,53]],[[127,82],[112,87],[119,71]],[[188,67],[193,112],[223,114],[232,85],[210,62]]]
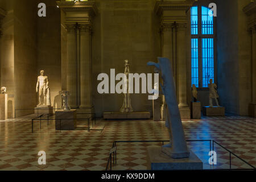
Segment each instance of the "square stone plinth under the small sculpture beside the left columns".
[[[60,121],[61,119],[61,121]],[[61,126],[60,126],[61,122]],[[57,110],[55,112],[56,130],[75,130],[76,129],[76,109]]]

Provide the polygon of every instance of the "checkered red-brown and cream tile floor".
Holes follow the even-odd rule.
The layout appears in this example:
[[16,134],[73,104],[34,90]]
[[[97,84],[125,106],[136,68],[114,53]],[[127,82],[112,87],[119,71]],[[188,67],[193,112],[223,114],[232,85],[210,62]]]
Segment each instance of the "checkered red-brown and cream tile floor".
[[[32,117],[32,116],[31,116]],[[0,170],[105,170],[114,140],[167,140],[164,122],[97,121],[90,133],[83,123],[74,131],[56,131],[31,119],[0,121]],[[183,121],[187,139],[214,139],[256,167],[256,118],[204,117]],[[101,130],[104,128],[104,130]],[[146,147],[161,143],[118,143],[117,165],[113,169],[146,169]],[[208,142],[189,142],[189,147],[208,165]],[[229,167],[229,154],[215,147],[217,166]],[[38,152],[45,151],[46,165],[38,164]],[[249,168],[232,156],[232,168]]]

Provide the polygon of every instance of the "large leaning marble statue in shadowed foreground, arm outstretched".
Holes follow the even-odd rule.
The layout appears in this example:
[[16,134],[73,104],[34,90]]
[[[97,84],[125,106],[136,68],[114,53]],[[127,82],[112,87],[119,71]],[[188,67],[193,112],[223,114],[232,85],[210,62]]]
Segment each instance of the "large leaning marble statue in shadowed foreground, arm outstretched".
[[161,87],[165,97],[166,126],[170,134],[170,143],[162,147],[162,152],[171,158],[189,158],[190,152],[181,123],[170,60],[158,57],[158,63],[149,62],[147,65],[154,65],[163,80]]

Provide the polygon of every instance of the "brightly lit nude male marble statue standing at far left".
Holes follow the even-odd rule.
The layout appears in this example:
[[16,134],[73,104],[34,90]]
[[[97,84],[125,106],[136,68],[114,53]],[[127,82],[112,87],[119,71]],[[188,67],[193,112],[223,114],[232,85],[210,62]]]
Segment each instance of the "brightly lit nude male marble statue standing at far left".
[[38,106],[51,106],[48,77],[44,75],[43,70],[40,71],[40,76],[38,76],[38,82],[36,83],[36,93],[39,93]]

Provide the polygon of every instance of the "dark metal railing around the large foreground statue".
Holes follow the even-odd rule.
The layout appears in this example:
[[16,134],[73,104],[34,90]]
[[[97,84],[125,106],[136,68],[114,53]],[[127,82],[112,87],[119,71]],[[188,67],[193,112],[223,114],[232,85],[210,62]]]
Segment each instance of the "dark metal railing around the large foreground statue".
[[[241,169],[232,169],[232,165],[231,165],[231,154],[233,154],[234,156],[236,156],[238,159],[242,160],[242,162],[244,162],[245,164],[247,164],[248,166],[251,167],[251,169],[242,169],[242,170],[255,170],[255,167],[252,166],[251,164],[247,163],[245,160],[243,160],[242,158],[240,158],[239,156],[237,156],[236,154],[234,154],[232,151],[228,150],[227,148],[225,148],[224,146],[222,146],[221,144],[219,144],[218,142],[216,142],[215,140],[186,140],[187,142],[209,142],[209,149],[210,151],[214,150],[214,143],[216,143],[218,146],[220,146],[221,148],[224,148],[226,151],[229,152],[229,170],[241,170]],[[115,150],[110,151],[109,153],[109,159],[108,159],[108,163],[106,166],[106,171],[108,171],[109,169],[109,165],[110,165],[110,171],[112,171],[112,155],[113,155],[113,165],[117,164],[117,143],[134,143],[134,142],[161,142],[162,145],[164,144],[164,142],[170,142],[170,140],[138,140],[138,141],[114,141],[112,148],[114,148]],[[204,169],[205,170],[205,169]],[[216,169],[210,169],[210,170],[216,170]],[[220,169],[217,169],[220,170]],[[222,169],[222,170],[226,170],[226,169]]]

